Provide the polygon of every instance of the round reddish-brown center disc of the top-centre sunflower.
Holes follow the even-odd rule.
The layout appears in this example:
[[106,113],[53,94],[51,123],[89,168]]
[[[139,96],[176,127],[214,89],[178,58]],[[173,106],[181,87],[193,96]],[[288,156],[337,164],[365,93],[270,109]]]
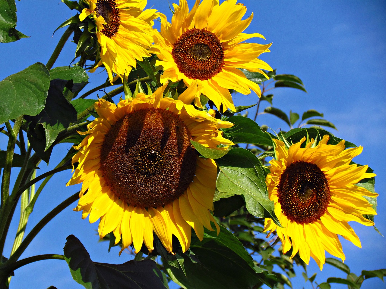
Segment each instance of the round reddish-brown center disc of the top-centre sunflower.
[[205,29],[189,29],[173,44],[171,54],[190,79],[208,80],[224,66],[224,49],[217,36]]

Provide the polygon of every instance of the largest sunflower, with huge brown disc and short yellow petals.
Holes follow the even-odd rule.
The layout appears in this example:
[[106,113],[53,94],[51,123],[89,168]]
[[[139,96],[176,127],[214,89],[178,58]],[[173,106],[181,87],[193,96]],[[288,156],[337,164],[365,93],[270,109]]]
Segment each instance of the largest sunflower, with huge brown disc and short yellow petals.
[[166,86],[118,106],[100,99],[95,103],[100,117],[74,146],[78,152],[72,162],[78,164],[67,185],[83,183],[74,210],[83,211],[82,218],[90,215],[90,223],[100,218],[101,238],[113,232],[117,244],[122,235],[122,250],[134,243],[138,252],[143,242],[152,251],[154,231],[169,252],[172,235],[185,252],[191,228],[200,240],[203,227],[213,231],[210,222],[219,230],[210,213],[217,166],[199,157],[190,140],[225,150],[233,143],[218,129],[233,124],[215,119],[213,110],[198,111],[183,103],[196,86],[178,100],[163,98]]

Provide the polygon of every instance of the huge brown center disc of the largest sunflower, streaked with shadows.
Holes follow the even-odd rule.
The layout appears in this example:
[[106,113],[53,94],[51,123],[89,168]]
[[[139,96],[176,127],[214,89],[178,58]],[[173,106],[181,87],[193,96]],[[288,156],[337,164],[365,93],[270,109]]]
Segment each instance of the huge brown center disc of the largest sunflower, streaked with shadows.
[[101,148],[110,190],[130,205],[159,207],[189,187],[196,171],[191,134],[175,113],[140,109],[111,126]]

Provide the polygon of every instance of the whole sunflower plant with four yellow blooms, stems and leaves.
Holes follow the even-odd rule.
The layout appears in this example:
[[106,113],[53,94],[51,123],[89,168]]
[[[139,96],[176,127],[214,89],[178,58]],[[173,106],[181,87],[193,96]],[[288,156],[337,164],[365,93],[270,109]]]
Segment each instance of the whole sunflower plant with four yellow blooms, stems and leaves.
[[[308,110],[300,119],[273,106],[276,87],[306,89],[261,60],[274,44],[244,33],[254,16],[245,17],[245,5],[180,0],[169,18],[146,0],[62,2],[77,13],[56,29],[66,30],[48,62],[0,82],[7,139],[0,151],[0,288],[12,288],[20,267],[48,259],[67,262],[73,279],[93,289],[284,288],[292,287],[295,265],[322,289],[383,279],[386,269],[350,272],[339,240],[361,247],[353,222],[378,231],[376,174],[354,162],[361,146],[322,128],[335,129],[323,113]],[[0,16],[1,42],[26,37],[15,29],[14,0],[0,1]],[[72,64],[54,67],[71,35]],[[105,81],[89,89],[97,71]],[[234,101],[252,92],[255,104]],[[262,113],[288,130],[259,126]],[[62,160],[60,143],[68,145]],[[41,161],[58,164],[39,173]],[[25,234],[30,214],[39,216],[40,193],[65,170],[66,185],[80,191],[48,204],[52,210]],[[60,195],[60,184],[50,193]],[[92,261],[71,230],[66,240],[52,236],[63,252],[24,256],[67,207],[98,224],[106,250],[129,252],[124,262]],[[317,283],[306,271],[311,259],[347,279]]]

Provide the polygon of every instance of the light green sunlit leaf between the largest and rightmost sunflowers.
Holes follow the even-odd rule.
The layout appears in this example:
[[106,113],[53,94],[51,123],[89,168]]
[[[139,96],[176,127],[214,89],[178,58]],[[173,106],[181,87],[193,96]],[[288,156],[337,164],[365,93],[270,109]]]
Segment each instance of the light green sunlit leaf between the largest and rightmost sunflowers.
[[245,206],[252,215],[272,218],[280,226],[273,202],[268,198],[264,170],[257,157],[249,150],[234,148],[216,162],[220,173],[213,200],[243,195]]

